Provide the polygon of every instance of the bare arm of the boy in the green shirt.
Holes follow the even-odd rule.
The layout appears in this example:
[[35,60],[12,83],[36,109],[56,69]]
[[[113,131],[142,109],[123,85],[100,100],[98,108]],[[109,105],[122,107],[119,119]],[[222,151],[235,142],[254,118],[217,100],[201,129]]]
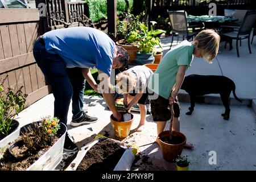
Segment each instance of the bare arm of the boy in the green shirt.
[[171,97],[169,97],[169,101],[171,103],[174,102],[177,94],[180,91],[181,84],[182,84],[182,82],[184,80],[184,77],[185,77],[186,68],[187,68],[187,65],[180,65],[179,66],[179,69],[178,69],[177,75],[176,75],[175,90],[174,90],[174,92],[172,92]]

